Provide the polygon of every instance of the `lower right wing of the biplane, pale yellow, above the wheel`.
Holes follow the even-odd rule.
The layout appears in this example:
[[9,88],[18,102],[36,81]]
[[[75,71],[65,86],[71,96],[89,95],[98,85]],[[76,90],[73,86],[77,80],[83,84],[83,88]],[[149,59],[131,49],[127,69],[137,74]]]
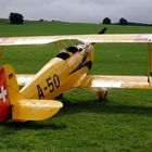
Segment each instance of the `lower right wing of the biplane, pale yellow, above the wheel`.
[[86,76],[79,87],[152,89],[147,76]]

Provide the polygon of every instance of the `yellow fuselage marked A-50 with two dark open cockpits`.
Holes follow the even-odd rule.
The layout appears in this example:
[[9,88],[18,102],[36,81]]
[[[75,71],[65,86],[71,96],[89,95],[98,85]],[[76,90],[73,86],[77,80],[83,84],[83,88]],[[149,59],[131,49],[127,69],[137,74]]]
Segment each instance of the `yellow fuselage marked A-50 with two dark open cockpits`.
[[68,47],[49,61],[21,93],[27,99],[54,99],[80,84],[93,61],[93,46]]

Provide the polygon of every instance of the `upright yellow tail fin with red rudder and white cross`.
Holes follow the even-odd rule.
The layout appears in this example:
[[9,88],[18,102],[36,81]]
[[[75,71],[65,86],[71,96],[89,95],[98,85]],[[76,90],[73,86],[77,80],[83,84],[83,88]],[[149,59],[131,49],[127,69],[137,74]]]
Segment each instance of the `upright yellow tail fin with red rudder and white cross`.
[[13,67],[10,65],[0,67],[0,122],[11,118],[11,105],[15,102],[16,93],[18,86]]

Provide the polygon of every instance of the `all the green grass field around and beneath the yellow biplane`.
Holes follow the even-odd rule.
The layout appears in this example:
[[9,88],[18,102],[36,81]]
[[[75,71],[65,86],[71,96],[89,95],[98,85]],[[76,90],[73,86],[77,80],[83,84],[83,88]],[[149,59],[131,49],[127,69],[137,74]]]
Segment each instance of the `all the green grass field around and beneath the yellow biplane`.
[[[62,22],[0,21],[0,36],[93,34],[104,26]],[[152,33],[152,27],[107,26],[107,33]],[[36,73],[56,52],[55,45],[7,47],[3,63],[17,73]],[[147,45],[96,45],[91,74],[147,75]],[[64,94],[64,107],[43,122],[0,125],[0,151],[151,152],[151,90],[110,89],[107,103],[84,89]]]

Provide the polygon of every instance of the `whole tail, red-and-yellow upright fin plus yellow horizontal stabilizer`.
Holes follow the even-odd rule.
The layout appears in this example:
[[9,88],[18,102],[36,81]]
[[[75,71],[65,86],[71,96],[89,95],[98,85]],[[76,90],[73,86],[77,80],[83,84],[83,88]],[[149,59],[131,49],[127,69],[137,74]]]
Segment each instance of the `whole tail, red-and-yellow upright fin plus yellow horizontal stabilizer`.
[[0,68],[0,122],[42,121],[53,116],[63,106],[54,100],[25,99],[20,93],[14,68]]

